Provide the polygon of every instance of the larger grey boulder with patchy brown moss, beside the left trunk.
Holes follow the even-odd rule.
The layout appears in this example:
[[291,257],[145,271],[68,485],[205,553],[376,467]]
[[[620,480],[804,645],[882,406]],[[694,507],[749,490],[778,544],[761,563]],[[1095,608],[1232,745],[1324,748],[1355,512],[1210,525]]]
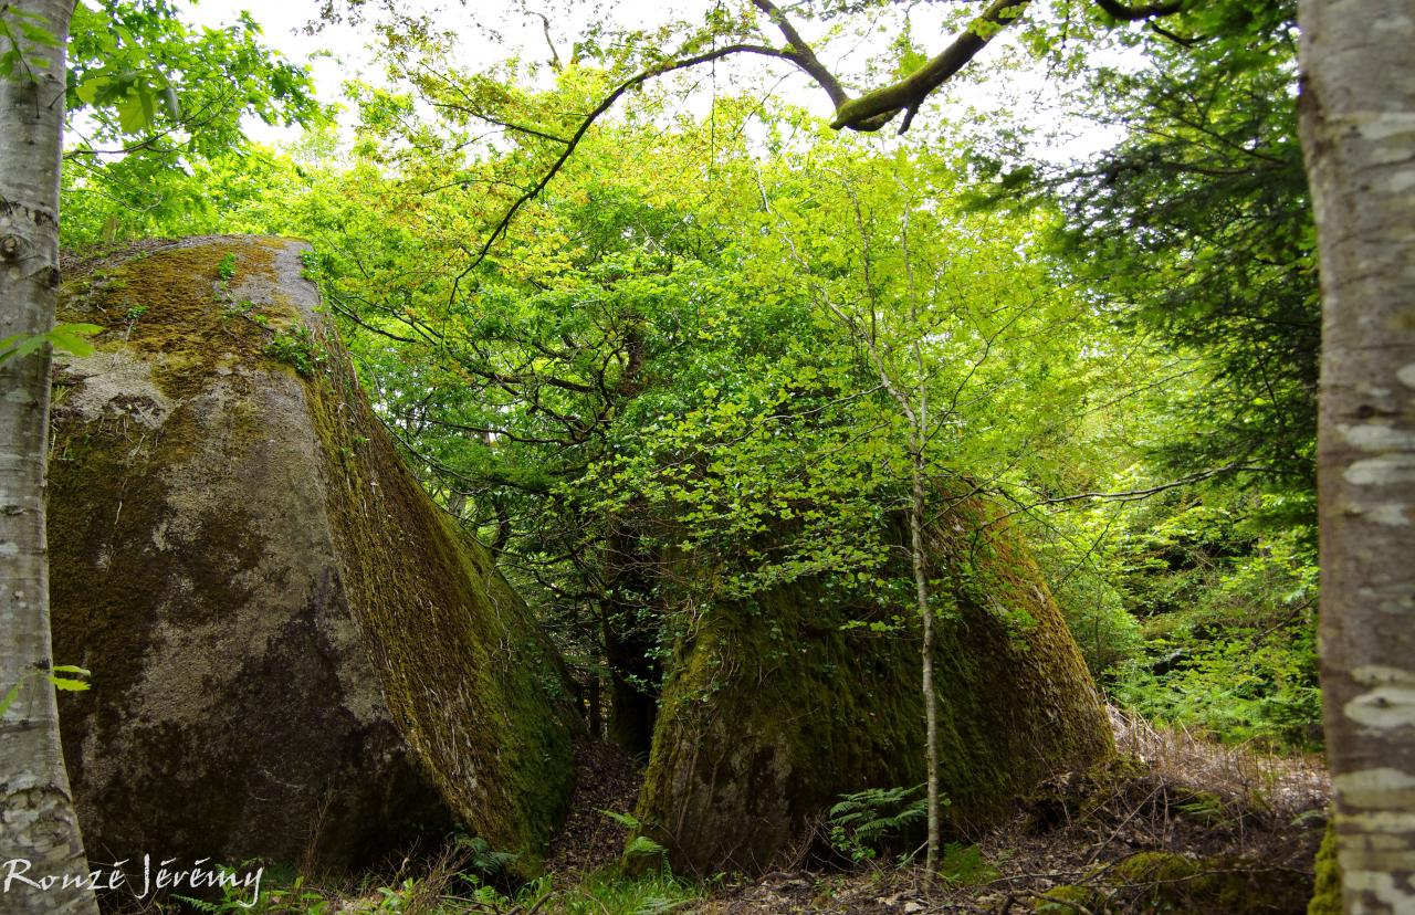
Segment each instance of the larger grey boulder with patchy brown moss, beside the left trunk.
[[573,788],[553,649],[423,494],[301,276],[190,239],[67,284],[106,327],[55,369],[55,656],[95,861],[320,870],[454,826],[535,870]]

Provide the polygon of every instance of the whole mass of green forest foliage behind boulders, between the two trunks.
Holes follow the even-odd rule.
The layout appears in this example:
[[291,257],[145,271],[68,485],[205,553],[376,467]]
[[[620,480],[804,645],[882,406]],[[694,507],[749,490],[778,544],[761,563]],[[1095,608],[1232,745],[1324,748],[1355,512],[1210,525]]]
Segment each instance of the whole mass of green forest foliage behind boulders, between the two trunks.
[[[879,14],[900,31],[857,79],[921,54],[913,10]],[[1163,25],[1033,10],[989,75],[1049,68],[1071,91],[1061,123],[1114,137],[1082,158],[1016,109],[841,133],[685,71],[635,85],[556,165],[625,75],[770,28],[719,17],[613,45],[606,23],[549,30],[468,68],[436,18],[392,14],[385,75],[347,88],[352,134],[188,144],[161,170],[146,150],[95,168],[76,146],[67,243],[311,239],[386,424],[587,679],[652,692],[657,666],[616,670],[614,642],[662,655],[682,625],[662,608],[705,590],[819,570],[882,605],[907,588],[872,533],[908,479],[877,356],[934,404],[930,485],[1005,501],[1118,700],[1319,745],[1292,8]],[[307,95],[284,99],[267,105],[314,117]],[[134,168],[161,205],[123,195]],[[784,542],[743,549],[778,522]],[[715,573],[649,581],[665,549]],[[625,618],[645,590],[655,618]]]

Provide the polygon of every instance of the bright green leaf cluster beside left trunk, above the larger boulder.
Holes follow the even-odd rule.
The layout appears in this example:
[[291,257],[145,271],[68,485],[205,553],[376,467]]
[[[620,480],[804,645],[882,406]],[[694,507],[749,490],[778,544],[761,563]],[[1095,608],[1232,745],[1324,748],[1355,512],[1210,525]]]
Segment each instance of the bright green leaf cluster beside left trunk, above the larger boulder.
[[168,0],[85,0],[68,51],[68,245],[188,233],[218,208],[214,198],[243,184],[201,173],[279,173],[248,161],[242,117],[306,126],[324,119],[307,72],[265,47],[249,16],[197,30]]

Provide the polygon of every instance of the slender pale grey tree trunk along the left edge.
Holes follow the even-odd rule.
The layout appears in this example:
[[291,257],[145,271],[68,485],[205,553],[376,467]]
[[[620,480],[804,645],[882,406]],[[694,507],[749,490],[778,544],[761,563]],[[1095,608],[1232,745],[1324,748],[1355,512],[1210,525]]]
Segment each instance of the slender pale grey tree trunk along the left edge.
[[[47,332],[59,281],[59,153],[64,42],[72,0],[0,6],[0,338]],[[23,38],[41,27],[52,42]],[[96,914],[91,887],[38,888],[48,875],[82,875],[83,843],[59,754],[50,653],[44,468],[50,356],[42,348],[0,365],[0,694],[18,694],[0,717],[0,909]],[[7,880],[8,878],[8,880]]]

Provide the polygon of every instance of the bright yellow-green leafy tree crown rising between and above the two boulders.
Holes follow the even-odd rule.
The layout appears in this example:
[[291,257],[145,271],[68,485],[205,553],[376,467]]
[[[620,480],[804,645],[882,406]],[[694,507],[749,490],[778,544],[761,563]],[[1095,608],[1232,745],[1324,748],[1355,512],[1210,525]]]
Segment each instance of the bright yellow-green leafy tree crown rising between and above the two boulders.
[[[563,92],[522,113],[579,91]],[[890,372],[928,390],[931,482],[1090,482],[1082,417],[1111,380],[1109,341],[1082,342],[1098,322],[1034,255],[1037,216],[964,214],[937,160],[876,154],[794,112],[766,126],[792,153],[761,160],[722,139],[760,109],[722,100],[716,123],[587,140],[463,274],[504,187],[533,180],[553,143],[480,158],[451,148],[464,113],[424,116],[403,88],[361,99],[376,161],[308,201],[304,232],[334,242],[325,293],[358,320],[361,371],[429,486],[488,540],[509,536],[552,595],[603,594],[601,543],[630,526],[635,553],[705,570],[661,585],[658,607],[821,574],[882,618],[907,602],[880,532],[910,437],[865,327]]]

